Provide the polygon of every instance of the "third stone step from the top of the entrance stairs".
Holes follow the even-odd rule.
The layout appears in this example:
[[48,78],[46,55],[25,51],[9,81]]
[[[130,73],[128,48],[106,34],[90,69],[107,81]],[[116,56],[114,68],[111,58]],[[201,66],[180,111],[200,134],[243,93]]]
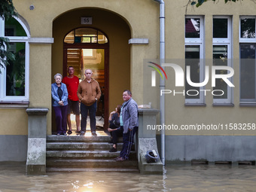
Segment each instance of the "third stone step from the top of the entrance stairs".
[[[87,158],[87,159],[111,159],[117,157],[120,151],[110,153],[109,151],[46,151],[46,157],[58,158]],[[130,152],[130,159],[136,159],[136,152]]]

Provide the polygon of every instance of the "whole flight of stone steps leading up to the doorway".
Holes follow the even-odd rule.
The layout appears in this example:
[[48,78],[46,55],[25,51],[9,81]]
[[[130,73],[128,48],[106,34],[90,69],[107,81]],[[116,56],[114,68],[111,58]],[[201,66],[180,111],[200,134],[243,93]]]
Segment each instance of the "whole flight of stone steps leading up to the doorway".
[[134,148],[130,160],[116,162],[122,143],[110,153],[108,142],[109,136],[47,136],[47,172],[139,172]]

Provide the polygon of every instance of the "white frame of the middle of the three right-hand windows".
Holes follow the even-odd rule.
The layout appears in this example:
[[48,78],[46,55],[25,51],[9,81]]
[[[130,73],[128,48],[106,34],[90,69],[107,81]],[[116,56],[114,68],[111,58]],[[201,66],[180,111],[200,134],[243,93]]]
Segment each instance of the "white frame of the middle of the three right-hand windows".
[[[227,19],[227,38],[213,38],[213,20],[214,19]],[[213,16],[212,17],[212,56],[213,46],[215,45],[227,45],[227,66],[233,68],[233,23],[231,16]],[[213,58],[212,58],[213,59]],[[233,82],[233,77],[228,78],[230,82]],[[213,87],[212,87],[213,89]],[[213,105],[215,104],[231,104],[233,102],[233,89],[227,85],[227,99],[213,99]]]

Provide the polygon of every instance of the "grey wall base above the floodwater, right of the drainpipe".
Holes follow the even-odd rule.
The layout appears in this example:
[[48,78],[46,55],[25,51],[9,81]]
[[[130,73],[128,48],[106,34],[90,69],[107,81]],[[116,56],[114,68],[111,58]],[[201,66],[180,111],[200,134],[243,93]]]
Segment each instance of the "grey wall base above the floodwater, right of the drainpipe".
[[255,146],[255,136],[166,136],[166,161],[251,161]]

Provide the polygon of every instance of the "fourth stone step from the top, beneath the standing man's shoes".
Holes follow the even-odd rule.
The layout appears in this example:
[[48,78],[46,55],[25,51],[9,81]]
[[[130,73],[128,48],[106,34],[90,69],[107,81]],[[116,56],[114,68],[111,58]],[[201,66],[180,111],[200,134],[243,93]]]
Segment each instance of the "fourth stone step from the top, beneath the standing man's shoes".
[[47,167],[65,167],[65,168],[122,168],[137,169],[138,162],[136,160],[125,160],[117,162],[101,159],[47,159]]

